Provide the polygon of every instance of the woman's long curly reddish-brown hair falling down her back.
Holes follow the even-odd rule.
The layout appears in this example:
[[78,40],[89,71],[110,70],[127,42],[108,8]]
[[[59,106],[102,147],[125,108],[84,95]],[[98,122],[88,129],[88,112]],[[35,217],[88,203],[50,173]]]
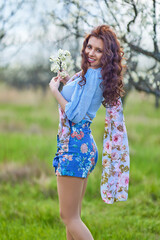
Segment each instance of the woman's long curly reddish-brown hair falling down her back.
[[107,107],[107,105],[116,105],[118,98],[123,97],[123,93],[125,93],[122,79],[126,65],[122,65],[122,60],[125,59],[123,57],[123,49],[120,46],[116,34],[108,25],[96,27],[90,34],[87,34],[84,39],[81,50],[82,80],[79,81],[79,84],[82,86],[86,83],[84,75],[88,69],[88,61],[85,49],[91,36],[102,39],[104,43],[104,51],[101,58],[101,74],[103,80],[100,84],[104,97],[102,104],[104,107]]

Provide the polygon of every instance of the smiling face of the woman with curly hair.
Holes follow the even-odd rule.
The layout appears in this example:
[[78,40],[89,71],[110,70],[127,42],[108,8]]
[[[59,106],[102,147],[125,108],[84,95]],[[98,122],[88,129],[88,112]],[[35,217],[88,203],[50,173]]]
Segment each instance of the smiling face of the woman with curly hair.
[[104,43],[100,38],[91,36],[85,49],[85,54],[91,68],[101,67]]

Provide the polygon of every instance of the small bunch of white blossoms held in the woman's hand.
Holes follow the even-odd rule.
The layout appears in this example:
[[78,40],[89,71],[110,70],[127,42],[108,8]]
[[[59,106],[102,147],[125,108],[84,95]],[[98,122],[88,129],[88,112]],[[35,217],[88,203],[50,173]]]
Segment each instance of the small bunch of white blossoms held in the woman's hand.
[[[58,56],[50,57],[50,59],[49,59],[50,62],[52,62],[51,71],[56,72],[56,73],[58,73],[60,71],[59,75],[62,78],[67,77],[68,74],[65,72],[66,68],[67,68],[66,59],[70,56],[71,56],[71,54],[69,51],[59,49]],[[60,82],[59,91],[61,91],[62,88],[63,88],[63,83]]]

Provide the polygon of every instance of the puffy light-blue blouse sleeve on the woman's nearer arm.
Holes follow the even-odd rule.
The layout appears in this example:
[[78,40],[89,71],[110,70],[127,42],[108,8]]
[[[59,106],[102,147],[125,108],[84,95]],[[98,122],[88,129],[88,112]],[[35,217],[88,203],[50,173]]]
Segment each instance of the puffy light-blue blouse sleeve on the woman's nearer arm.
[[[80,122],[86,115],[93,96],[100,84],[101,72],[99,69],[89,68],[85,74],[86,84],[80,86],[77,81],[71,101],[65,106],[67,118],[74,122]],[[79,78],[81,80],[81,77]]]

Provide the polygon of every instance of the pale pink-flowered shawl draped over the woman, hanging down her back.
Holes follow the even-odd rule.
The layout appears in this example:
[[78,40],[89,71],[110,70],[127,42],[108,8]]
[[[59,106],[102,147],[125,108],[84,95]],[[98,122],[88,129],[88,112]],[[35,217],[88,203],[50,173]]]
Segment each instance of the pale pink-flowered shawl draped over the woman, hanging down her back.
[[[75,74],[68,82],[81,75]],[[59,153],[68,151],[70,123],[65,111],[59,106],[58,137],[62,143]],[[129,185],[129,146],[121,99],[114,107],[106,108],[103,137],[101,197],[105,203],[126,201]]]

